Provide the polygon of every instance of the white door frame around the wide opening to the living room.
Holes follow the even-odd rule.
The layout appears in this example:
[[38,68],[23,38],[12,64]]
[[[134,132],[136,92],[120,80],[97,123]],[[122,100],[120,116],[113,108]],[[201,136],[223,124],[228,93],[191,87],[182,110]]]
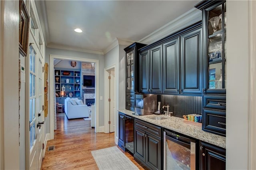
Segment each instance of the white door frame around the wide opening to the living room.
[[75,60],[82,62],[95,63],[95,83],[96,83],[96,123],[95,123],[95,132],[99,132],[99,60],[98,59],[87,59],[87,58],[79,58],[79,57],[71,57],[64,55],[52,55],[50,54],[50,62],[49,62],[49,95],[50,95],[50,139],[54,139],[54,59],[65,59],[65,60]]

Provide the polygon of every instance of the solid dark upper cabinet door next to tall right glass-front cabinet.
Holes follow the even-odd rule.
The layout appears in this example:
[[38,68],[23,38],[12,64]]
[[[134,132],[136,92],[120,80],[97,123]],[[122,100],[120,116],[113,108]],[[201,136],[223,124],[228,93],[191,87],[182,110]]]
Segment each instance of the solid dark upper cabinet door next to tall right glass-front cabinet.
[[202,36],[197,28],[181,36],[180,93],[202,93]]

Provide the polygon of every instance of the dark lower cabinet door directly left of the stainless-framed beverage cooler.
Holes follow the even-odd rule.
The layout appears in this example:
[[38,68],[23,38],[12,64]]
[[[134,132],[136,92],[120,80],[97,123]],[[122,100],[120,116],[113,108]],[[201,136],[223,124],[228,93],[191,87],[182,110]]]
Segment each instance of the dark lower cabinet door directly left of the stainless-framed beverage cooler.
[[152,170],[160,170],[161,163],[161,139],[146,133],[146,164]]

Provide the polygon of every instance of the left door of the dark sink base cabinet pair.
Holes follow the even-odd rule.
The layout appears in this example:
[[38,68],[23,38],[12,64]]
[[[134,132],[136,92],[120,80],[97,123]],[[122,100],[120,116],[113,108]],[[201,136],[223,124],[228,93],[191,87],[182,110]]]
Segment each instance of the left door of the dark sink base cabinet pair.
[[134,155],[146,162],[145,131],[134,127]]

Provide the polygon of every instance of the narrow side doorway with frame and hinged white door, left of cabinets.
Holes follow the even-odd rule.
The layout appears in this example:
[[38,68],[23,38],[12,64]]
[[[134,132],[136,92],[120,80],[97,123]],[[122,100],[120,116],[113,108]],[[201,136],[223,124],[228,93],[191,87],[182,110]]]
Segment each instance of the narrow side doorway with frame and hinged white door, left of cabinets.
[[116,113],[115,66],[105,69],[105,126],[104,132],[115,132]]

